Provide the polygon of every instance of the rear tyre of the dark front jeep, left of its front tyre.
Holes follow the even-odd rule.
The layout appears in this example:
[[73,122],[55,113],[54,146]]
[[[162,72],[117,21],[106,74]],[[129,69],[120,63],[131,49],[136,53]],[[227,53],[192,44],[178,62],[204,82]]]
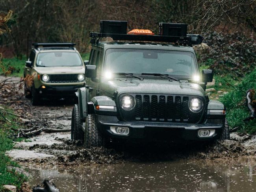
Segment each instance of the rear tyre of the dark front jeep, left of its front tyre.
[[83,140],[84,133],[81,126],[81,120],[79,117],[79,108],[78,105],[75,104],[72,110],[72,118],[71,118],[71,139],[74,140]]

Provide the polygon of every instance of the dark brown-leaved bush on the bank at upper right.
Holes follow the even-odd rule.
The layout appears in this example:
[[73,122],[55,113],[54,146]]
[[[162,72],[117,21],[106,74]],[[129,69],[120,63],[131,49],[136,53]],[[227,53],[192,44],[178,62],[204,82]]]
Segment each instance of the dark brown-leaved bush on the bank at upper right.
[[210,49],[198,57],[199,63],[210,65],[217,74],[229,73],[234,78],[243,77],[255,68],[256,41],[253,35],[242,32],[210,32],[204,42]]

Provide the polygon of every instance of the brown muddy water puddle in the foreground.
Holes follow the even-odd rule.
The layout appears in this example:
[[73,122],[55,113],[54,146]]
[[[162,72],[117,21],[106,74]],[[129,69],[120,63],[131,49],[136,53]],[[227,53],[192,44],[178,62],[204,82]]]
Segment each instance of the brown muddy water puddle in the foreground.
[[35,186],[49,179],[61,192],[248,192],[256,190],[256,157],[44,167],[24,164]]

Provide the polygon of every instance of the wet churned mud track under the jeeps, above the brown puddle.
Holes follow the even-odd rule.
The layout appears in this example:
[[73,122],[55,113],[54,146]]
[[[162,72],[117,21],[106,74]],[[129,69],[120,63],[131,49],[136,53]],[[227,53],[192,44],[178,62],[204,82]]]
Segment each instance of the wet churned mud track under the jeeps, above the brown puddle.
[[[20,95],[22,92],[19,93]],[[19,97],[19,94],[17,97]],[[13,99],[13,98],[12,98]],[[70,100],[47,100],[40,106],[32,106],[29,99],[22,98],[10,104],[20,114],[20,124],[30,129],[68,129],[71,126],[73,103]],[[18,135],[18,133],[17,133]],[[15,135],[17,137],[17,135]],[[125,161],[168,161],[171,159],[216,159],[254,155],[256,135],[232,133],[231,140],[215,143],[125,143],[112,142],[110,148],[84,149],[81,141],[70,139],[70,132],[45,133],[15,144],[9,156],[20,162],[46,164],[93,164]],[[138,147],[139,146],[139,147]]]

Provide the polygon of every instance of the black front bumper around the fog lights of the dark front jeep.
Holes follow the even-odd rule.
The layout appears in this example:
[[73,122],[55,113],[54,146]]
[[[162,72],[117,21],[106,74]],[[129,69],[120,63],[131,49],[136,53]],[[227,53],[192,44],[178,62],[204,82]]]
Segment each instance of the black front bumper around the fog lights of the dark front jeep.
[[[184,124],[164,122],[124,122],[116,116],[96,115],[97,126],[102,133],[116,138],[145,138],[161,140],[215,140],[221,136],[223,124]],[[128,135],[115,135],[110,126],[128,127]],[[214,129],[211,137],[198,137],[198,130]]]

